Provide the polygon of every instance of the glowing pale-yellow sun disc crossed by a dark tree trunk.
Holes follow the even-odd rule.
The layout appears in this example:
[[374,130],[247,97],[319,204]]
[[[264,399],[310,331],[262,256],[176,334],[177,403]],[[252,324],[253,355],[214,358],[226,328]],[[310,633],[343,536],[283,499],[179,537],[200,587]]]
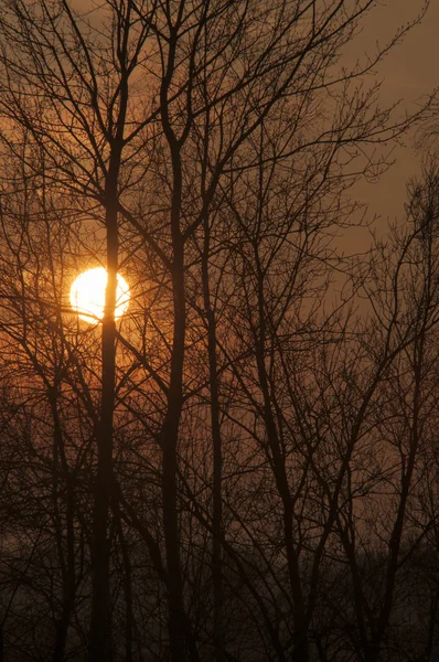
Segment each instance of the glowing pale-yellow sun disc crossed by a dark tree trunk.
[[[71,305],[79,318],[89,324],[103,321],[105,308],[105,289],[107,287],[107,271],[104,267],[83,271],[74,280],[71,288]],[[129,286],[117,275],[115,319],[121,318],[128,310]]]

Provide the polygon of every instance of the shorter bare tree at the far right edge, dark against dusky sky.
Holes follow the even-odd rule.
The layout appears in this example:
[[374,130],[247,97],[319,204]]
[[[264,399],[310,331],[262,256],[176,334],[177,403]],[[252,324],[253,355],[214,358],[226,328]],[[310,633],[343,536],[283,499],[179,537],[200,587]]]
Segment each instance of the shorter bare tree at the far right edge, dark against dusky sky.
[[[401,583],[432,523],[417,514],[422,458],[437,407],[438,256],[431,181],[427,178],[421,195],[428,209],[420,211],[422,186],[415,186],[406,225],[378,243],[373,277],[365,285],[370,320],[355,354],[338,378],[331,376],[343,393],[343,399],[338,396],[345,409],[343,435],[352,448],[338,531],[352,576],[357,645],[362,659],[371,662],[384,648],[396,645],[394,615],[399,621],[405,618]],[[400,628],[401,622],[397,632]]]

